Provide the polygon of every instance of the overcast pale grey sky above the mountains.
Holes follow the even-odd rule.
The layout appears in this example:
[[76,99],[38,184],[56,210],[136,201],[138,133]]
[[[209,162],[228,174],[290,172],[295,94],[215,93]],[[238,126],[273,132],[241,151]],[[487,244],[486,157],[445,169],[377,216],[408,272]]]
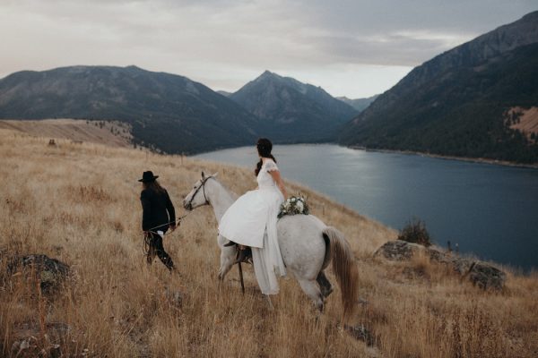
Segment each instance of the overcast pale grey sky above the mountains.
[[265,70],[363,98],[536,0],[0,0],[0,78],[135,64],[235,91]]

